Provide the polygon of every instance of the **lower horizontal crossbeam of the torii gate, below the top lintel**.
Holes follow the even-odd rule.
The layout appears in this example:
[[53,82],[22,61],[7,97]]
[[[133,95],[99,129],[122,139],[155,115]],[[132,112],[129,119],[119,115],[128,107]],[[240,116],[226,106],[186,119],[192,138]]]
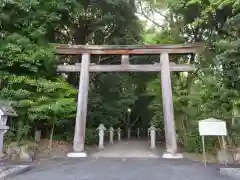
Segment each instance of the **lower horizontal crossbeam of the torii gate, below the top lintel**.
[[[156,64],[141,64],[141,65],[90,65],[90,72],[159,72],[161,65]],[[170,71],[195,71],[194,65],[190,64],[171,64]],[[57,71],[59,72],[79,72],[81,65],[58,65]]]

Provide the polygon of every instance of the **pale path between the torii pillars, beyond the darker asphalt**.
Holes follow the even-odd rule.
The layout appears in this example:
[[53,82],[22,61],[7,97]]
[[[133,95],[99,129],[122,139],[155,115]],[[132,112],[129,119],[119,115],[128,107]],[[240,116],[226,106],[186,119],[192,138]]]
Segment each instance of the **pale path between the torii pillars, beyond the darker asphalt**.
[[105,149],[91,154],[92,157],[121,157],[121,158],[158,158],[161,151],[150,150],[148,141],[128,140],[116,141]]

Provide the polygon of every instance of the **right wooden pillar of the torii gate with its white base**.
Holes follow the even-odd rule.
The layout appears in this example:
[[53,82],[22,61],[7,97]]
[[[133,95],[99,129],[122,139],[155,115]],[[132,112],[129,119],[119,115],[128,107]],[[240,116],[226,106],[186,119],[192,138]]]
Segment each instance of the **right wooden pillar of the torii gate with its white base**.
[[166,152],[163,154],[162,157],[169,159],[181,159],[183,158],[182,154],[177,153],[177,138],[174,122],[172,84],[170,73],[171,71],[168,53],[162,53],[160,55],[160,64],[161,64],[164,129],[166,141]]

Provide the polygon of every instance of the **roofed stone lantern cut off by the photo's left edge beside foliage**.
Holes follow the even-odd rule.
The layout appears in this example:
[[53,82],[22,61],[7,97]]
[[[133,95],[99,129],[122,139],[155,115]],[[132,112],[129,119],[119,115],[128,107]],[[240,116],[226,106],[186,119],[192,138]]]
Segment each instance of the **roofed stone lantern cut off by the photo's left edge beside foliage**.
[[10,103],[0,102],[0,156],[3,156],[3,139],[4,134],[8,131],[9,127],[6,126],[9,116],[17,116]]

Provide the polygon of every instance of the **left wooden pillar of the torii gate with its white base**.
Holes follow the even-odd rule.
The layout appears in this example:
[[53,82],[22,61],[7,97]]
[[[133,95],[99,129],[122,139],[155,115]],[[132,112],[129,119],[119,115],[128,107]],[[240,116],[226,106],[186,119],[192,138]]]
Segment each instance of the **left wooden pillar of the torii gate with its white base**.
[[79,78],[77,115],[73,139],[73,152],[68,157],[86,157],[84,152],[85,128],[88,102],[90,54],[82,54],[81,72]]

